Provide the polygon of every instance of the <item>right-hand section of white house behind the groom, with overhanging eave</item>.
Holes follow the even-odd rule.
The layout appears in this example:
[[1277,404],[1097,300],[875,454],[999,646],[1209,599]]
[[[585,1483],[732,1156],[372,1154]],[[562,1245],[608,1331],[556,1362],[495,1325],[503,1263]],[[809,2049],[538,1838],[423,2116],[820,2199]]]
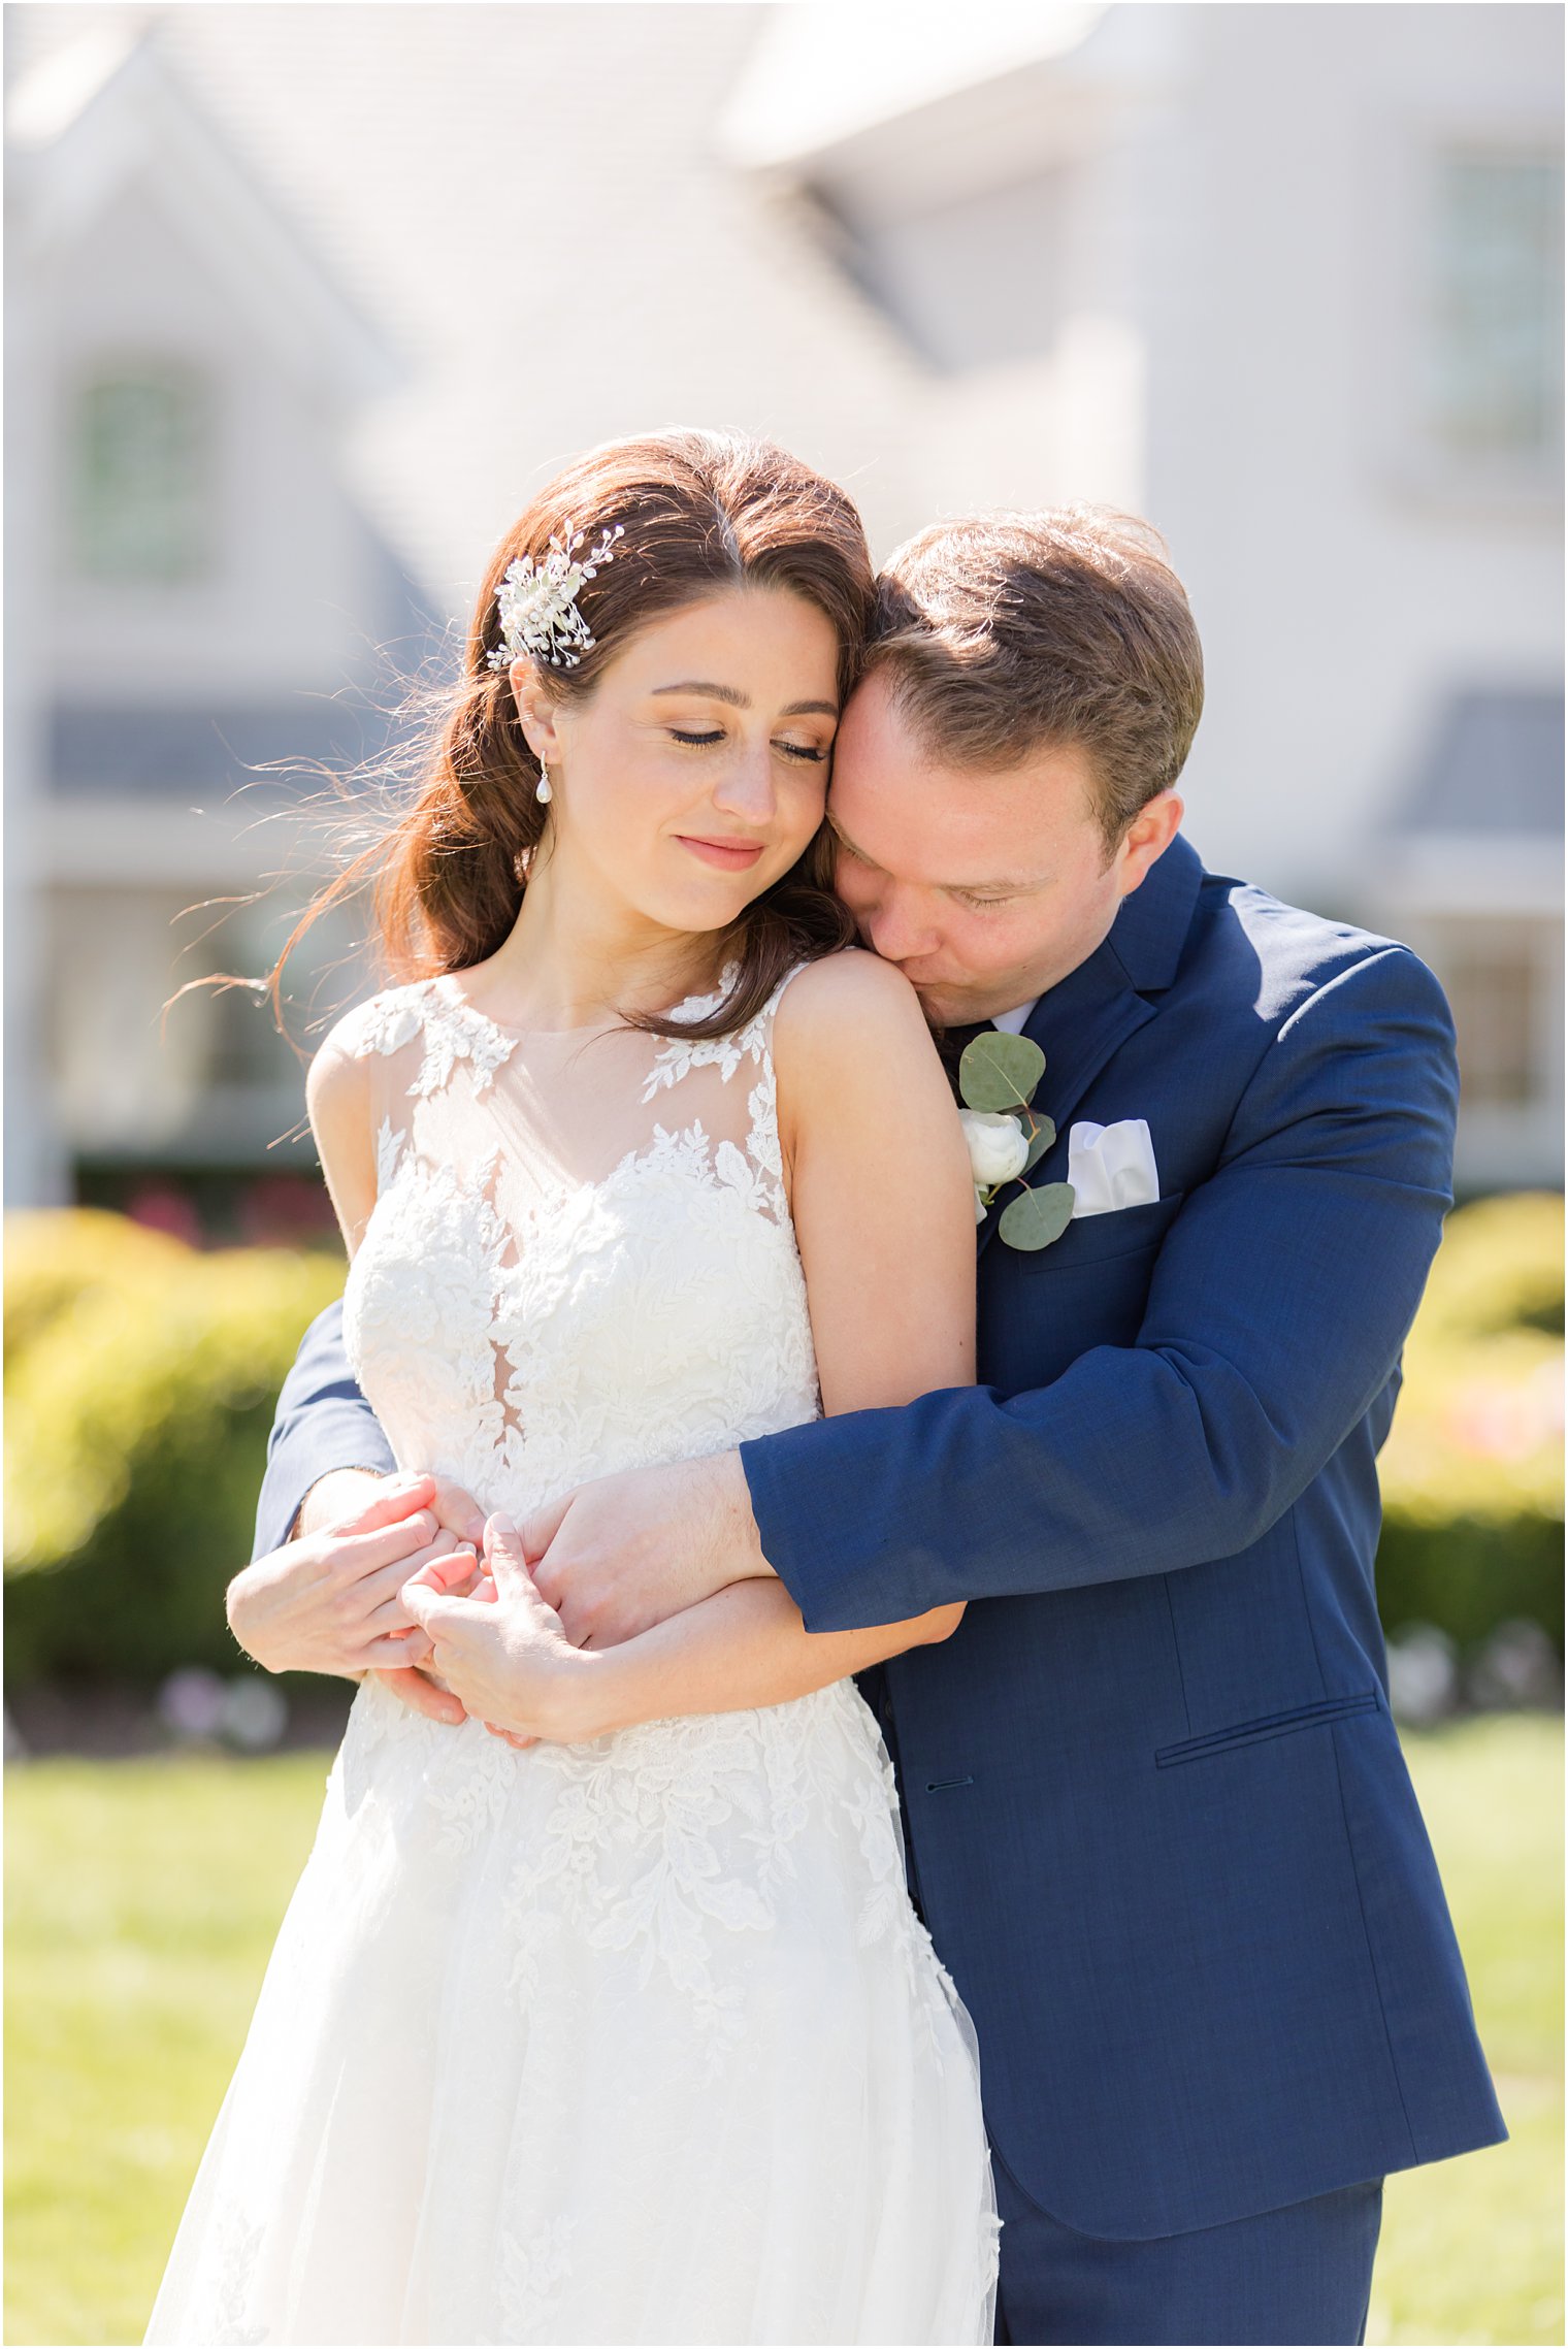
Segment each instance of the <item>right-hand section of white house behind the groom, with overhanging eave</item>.
[[775,12],[723,136],[922,355],[927,507],[1164,531],[1204,855],[1411,937],[1460,1182],[1561,1182],[1561,12],[904,21]]

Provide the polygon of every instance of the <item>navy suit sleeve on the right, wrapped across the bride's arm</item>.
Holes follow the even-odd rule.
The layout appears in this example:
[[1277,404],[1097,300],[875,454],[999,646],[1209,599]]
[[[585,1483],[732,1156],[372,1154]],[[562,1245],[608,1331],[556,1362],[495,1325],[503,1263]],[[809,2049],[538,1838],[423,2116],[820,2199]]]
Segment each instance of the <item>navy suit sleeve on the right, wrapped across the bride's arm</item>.
[[[1387,1384],[1451,1205],[1448,1005],[1404,947],[1284,1019],[1155,1259],[1134,1346],[742,1447],[807,1630],[1232,1557]],[[1042,1301],[1049,1278],[1038,1276]]]

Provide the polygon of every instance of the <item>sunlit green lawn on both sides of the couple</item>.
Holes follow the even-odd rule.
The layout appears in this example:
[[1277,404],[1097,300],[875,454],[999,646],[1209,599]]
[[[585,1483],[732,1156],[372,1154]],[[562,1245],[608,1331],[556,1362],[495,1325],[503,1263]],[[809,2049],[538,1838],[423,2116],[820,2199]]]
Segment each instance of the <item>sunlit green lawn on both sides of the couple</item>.
[[[1408,1750],[1514,2142],[1390,2180],[1368,2340],[1561,2342],[1561,1722]],[[141,2340],[324,1776],[7,1771],[7,2342]]]

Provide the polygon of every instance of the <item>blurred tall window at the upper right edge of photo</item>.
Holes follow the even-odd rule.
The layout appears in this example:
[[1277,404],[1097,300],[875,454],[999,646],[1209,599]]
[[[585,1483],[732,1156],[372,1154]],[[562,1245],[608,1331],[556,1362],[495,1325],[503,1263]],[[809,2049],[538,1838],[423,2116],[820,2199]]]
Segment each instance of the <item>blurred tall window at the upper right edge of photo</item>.
[[1425,416],[1451,463],[1545,470],[1563,402],[1561,157],[1437,164]]

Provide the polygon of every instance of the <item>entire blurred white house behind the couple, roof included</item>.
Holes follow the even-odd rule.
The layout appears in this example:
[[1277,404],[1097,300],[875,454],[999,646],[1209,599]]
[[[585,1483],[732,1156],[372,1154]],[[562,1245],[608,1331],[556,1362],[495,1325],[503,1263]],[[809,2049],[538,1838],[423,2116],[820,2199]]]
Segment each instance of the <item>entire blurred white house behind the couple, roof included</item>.
[[[5,21],[12,1205],[324,1214],[265,1005],[162,1005],[265,968],[526,496],[671,420],[878,554],[1145,512],[1207,862],[1427,954],[1460,1186],[1561,1184],[1559,7]],[[326,928],[296,1041],[364,984]]]

